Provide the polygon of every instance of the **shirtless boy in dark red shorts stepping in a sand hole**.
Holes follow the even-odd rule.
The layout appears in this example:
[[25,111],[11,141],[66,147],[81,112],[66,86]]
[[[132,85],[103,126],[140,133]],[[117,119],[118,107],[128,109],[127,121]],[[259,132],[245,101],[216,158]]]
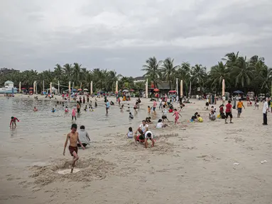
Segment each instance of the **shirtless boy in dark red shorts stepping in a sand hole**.
[[65,156],[65,149],[66,149],[68,140],[70,141],[70,145],[68,149],[71,156],[73,157],[72,168],[71,168],[71,174],[72,174],[72,171],[74,170],[74,167],[75,167],[75,162],[77,162],[77,160],[80,159],[80,157],[78,157],[77,155],[77,142],[80,143],[80,146],[82,147],[83,150],[85,149],[85,147],[82,145],[78,137],[77,124],[72,124],[71,132],[67,134],[64,150],[63,150],[63,156]]

